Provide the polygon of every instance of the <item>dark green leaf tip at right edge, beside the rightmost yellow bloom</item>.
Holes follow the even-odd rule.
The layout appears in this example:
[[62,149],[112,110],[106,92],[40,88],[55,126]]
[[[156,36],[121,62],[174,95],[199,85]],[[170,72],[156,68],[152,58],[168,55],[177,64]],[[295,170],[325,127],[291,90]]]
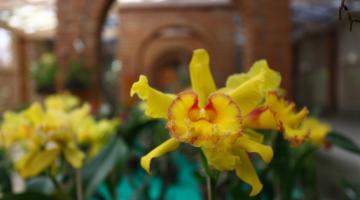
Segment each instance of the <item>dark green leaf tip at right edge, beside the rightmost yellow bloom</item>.
[[360,147],[343,134],[331,132],[326,136],[326,139],[341,149],[360,155]]

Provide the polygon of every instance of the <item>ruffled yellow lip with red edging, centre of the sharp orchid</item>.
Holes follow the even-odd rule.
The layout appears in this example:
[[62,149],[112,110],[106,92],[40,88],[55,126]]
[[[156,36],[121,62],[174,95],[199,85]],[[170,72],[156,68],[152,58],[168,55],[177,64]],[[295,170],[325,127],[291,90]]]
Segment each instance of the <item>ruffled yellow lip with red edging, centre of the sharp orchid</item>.
[[213,93],[205,106],[200,107],[198,102],[193,91],[179,93],[174,99],[167,123],[172,137],[194,146],[214,147],[221,138],[242,135],[240,109],[231,97]]

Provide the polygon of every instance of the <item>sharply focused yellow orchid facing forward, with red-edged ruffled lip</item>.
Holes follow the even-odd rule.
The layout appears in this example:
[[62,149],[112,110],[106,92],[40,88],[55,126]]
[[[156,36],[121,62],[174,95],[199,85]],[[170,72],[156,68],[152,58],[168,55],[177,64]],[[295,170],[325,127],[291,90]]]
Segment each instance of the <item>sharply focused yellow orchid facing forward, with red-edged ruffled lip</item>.
[[262,60],[248,73],[231,76],[227,87],[217,90],[204,49],[194,51],[189,68],[192,90],[177,95],[150,87],[144,75],[132,85],[130,95],[137,94],[145,101],[146,115],[166,119],[171,135],[141,158],[142,167],[150,172],[153,158],[184,142],[201,147],[215,169],[235,170],[240,179],[252,186],[250,195],[258,194],[262,184],[248,153],[257,153],[268,163],[273,151],[261,143],[259,134],[245,129],[243,118],[263,102],[269,91],[279,87],[280,75]]

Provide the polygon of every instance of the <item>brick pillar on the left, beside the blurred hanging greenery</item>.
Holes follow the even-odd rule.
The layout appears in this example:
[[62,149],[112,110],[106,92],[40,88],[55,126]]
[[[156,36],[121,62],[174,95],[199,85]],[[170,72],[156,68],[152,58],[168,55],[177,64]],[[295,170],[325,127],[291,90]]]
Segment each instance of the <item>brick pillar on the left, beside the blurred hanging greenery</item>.
[[58,0],[56,54],[60,66],[58,89],[64,90],[64,75],[72,59],[82,59],[90,72],[91,91],[84,98],[95,107],[100,101],[100,49],[103,24],[115,0]]

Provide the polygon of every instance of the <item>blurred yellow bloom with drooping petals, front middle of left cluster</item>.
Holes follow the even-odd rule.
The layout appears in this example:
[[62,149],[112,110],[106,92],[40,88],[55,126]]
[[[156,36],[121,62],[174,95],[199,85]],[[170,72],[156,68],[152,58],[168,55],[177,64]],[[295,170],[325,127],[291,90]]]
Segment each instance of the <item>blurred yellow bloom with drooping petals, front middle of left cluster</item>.
[[29,132],[23,141],[18,140],[25,143],[24,154],[15,160],[15,166],[24,178],[39,174],[61,154],[74,168],[81,167],[85,155],[76,145],[66,111],[44,110],[34,103],[20,115],[27,120]]

